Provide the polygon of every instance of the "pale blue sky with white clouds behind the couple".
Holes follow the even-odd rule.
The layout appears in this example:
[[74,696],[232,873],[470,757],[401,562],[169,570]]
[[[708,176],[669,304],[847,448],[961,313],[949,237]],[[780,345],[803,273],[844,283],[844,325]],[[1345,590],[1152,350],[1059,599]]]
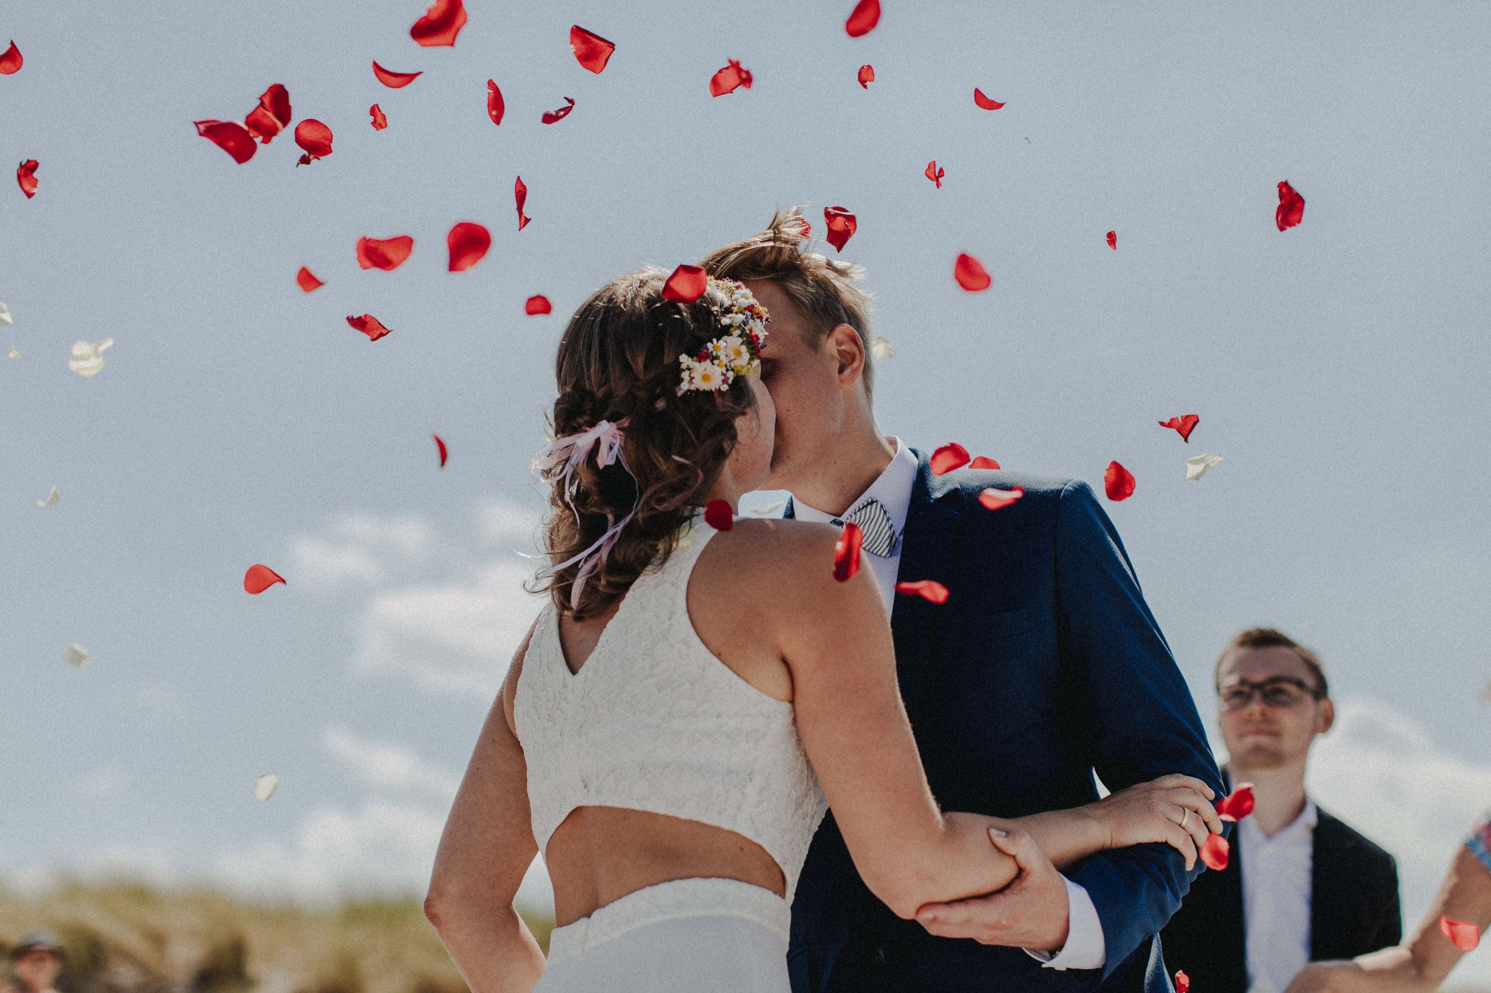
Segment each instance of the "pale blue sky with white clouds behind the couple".
[[[1399,855],[1418,916],[1491,804],[1491,12],[886,0],[850,39],[851,6],[470,0],[453,49],[410,40],[420,0],[0,15],[27,60],[0,161],[40,161],[34,199],[0,188],[0,874],[416,890],[537,612],[514,552],[565,316],[802,202],[819,232],[857,214],[887,433],[1133,470],[1108,511],[1208,721],[1235,630],[1324,657],[1348,719],[1317,794]],[[616,42],[602,74],[571,24]],[[729,58],[756,83],[711,98]],[[425,74],[388,89],[373,60]],[[274,82],[330,158],[197,137]],[[1306,199],[1287,232],[1279,180]],[[494,243],[447,272],[458,220]],[[397,234],[407,264],[356,266]],[[993,289],[953,283],[960,252]],[[98,375],[67,369],[110,336]],[[1156,426],[1190,412],[1188,445]],[[253,563],[289,585],[246,596]]]

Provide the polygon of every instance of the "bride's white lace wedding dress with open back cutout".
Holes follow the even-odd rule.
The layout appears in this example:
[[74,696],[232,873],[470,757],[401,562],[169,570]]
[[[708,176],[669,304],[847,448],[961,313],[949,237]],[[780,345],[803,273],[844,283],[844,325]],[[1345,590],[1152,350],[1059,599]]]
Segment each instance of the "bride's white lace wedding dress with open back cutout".
[[628,893],[553,930],[535,993],[789,990],[792,893],[826,804],[792,704],[737,676],[689,621],[689,575],[714,533],[695,518],[632,584],[579,673],[553,604],[540,616],[513,701],[534,838],[546,849],[584,805],[701,820],[760,844],[787,898],[726,878]]

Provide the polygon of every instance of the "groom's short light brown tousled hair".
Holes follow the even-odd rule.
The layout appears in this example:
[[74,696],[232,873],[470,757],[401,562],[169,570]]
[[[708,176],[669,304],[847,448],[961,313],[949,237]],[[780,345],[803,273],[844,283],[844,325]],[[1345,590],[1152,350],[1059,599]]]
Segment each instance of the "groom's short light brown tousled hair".
[[865,269],[853,262],[839,262],[817,252],[808,252],[802,237],[807,220],[801,207],[777,208],[771,223],[754,234],[708,255],[699,265],[710,275],[743,283],[771,280],[792,299],[807,319],[810,339],[817,348],[838,325],[848,325],[865,345],[865,369],[860,380],[865,395],[875,392],[875,363],[869,359],[869,293],[856,283]]

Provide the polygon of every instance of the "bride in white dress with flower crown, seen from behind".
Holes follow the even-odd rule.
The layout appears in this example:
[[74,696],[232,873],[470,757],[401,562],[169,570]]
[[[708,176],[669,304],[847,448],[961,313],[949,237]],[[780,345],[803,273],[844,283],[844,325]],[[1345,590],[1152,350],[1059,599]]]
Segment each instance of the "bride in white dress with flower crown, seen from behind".
[[[471,990],[786,993],[793,887],[826,805],[905,919],[1005,887],[1023,832],[1057,866],[1163,841],[1190,868],[1221,829],[1190,777],[1020,820],[938,808],[872,578],[835,579],[826,524],[732,520],[771,467],[765,308],[729,280],[695,302],[663,280],[611,281],[559,344],[556,439],[535,457],[555,484],[550,603],[425,901]],[[540,849],[547,963],[511,905]]]

